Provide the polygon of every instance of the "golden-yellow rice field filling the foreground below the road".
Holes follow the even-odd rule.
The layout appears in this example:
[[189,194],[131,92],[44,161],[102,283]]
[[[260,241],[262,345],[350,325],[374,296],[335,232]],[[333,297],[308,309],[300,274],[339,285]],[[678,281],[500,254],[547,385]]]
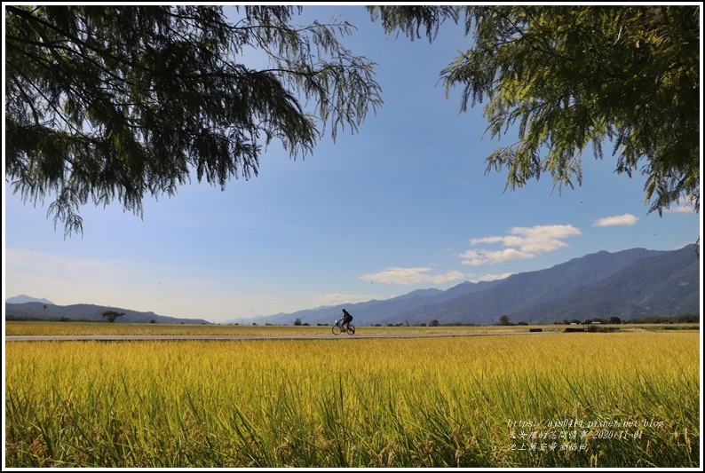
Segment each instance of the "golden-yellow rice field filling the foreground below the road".
[[5,374],[11,468],[700,466],[696,331],[6,342]]

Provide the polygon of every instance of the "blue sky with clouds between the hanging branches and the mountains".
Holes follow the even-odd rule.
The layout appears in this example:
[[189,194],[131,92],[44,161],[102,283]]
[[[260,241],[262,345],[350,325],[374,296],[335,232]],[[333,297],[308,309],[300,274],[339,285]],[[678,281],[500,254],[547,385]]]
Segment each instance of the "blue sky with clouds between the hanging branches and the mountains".
[[439,83],[469,43],[462,29],[441,28],[431,44],[387,38],[359,5],[308,5],[295,21],[334,16],[358,28],[344,43],[377,63],[383,90],[358,133],[324,138],[296,161],[273,142],[258,177],[224,192],[194,177],[175,197],[146,198],[143,219],[89,204],[83,236],[68,239],[46,217],[51,198],[34,207],[4,182],[4,298],[224,322],[447,289],[600,250],[682,248],[701,235],[692,209],[647,215],[644,178],[615,174],[610,154],[586,153],[574,190],[547,176],[504,192],[505,175],[486,175],[484,160],[516,134],[491,141],[481,105],[460,113],[460,91],[447,98]]

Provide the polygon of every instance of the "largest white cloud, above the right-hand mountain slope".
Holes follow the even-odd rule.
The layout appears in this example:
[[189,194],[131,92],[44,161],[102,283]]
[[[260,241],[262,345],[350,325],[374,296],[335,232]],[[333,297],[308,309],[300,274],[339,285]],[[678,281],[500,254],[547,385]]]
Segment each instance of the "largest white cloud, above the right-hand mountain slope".
[[479,266],[481,264],[499,264],[514,259],[531,259],[537,253],[547,253],[558,248],[565,248],[566,238],[581,235],[582,232],[573,225],[536,225],[531,227],[515,226],[509,235],[473,238],[473,247],[480,244],[501,244],[502,250],[470,249],[460,255],[463,264]]

